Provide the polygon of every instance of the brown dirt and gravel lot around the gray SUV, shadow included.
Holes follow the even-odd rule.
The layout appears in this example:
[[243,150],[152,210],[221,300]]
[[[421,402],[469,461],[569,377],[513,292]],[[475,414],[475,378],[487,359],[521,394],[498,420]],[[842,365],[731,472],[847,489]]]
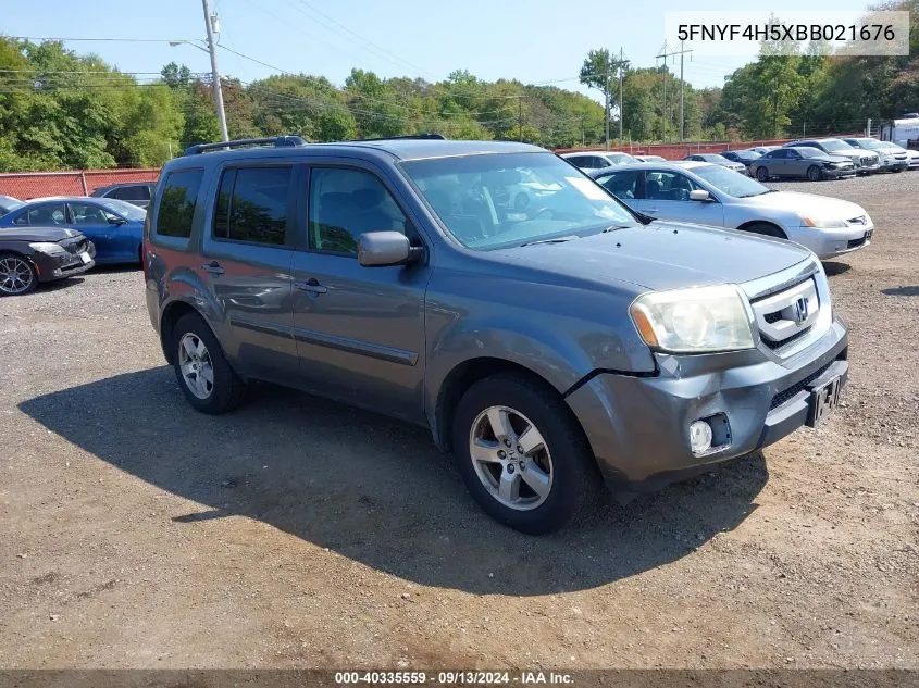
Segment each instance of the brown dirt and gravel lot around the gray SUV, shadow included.
[[919,668],[919,173],[831,265],[846,404],[547,538],[422,429],[275,388],[193,413],[136,271],[0,300],[0,666]]

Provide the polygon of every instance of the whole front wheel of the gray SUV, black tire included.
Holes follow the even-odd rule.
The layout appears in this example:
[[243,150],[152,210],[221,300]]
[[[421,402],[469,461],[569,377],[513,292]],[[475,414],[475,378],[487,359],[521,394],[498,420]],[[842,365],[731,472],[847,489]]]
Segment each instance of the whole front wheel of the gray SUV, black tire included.
[[[493,418],[511,436],[509,445],[494,431]],[[473,499],[516,530],[550,533],[586,515],[597,502],[600,476],[583,430],[554,389],[527,377],[498,374],[470,387],[457,405],[451,439]],[[485,460],[473,460],[473,441],[476,455]],[[531,485],[542,486],[542,493]],[[501,487],[516,505],[504,501]]]

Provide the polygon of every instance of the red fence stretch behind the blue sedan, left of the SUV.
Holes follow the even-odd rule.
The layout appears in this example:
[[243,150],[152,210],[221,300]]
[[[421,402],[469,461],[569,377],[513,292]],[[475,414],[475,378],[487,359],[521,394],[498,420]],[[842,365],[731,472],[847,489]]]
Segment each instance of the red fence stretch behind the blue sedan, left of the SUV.
[[23,201],[42,196],[87,196],[94,189],[124,182],[156,182],[159,170],[85,170],[0,174],[0,196]]

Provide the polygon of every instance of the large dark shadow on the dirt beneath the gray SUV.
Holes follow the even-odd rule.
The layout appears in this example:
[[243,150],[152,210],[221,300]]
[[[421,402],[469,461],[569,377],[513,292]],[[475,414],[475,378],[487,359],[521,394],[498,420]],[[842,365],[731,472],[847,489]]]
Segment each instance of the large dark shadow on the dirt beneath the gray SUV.
[[[376,570],[476,593],[593,588],[673,562],[755,509],[760,454],[535,538],[483,515],[430,433],[276,387],[213,417],[165,366],[20,404],[49,430],[163,490],[243,515]],[[493,575],[489,575],[493,574]]]

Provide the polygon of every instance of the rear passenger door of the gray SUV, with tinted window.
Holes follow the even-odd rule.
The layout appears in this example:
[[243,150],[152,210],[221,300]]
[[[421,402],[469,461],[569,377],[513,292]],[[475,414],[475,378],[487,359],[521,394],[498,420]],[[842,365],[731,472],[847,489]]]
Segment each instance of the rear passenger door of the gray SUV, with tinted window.
[[225,314],[222,343],[238,370],[287,384],[298,370],[290,332],[298,174],[294,164],[224,165],[197,266]]

